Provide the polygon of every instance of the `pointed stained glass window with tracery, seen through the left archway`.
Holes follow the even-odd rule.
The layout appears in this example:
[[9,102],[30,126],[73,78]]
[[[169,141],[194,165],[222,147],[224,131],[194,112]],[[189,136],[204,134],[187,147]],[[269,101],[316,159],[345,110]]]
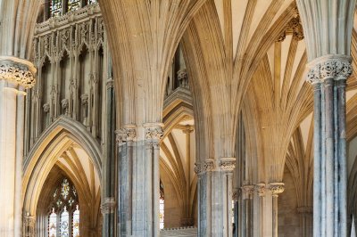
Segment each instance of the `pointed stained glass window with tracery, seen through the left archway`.
[[63,178],[52,194],[48,216],[49,237],[79,237],[79,199],[71,181]]

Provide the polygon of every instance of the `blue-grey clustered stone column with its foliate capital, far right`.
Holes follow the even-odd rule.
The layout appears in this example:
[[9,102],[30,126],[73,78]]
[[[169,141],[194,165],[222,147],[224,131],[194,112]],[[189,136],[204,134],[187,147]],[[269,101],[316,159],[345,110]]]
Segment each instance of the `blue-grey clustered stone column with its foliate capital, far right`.
[[314,90],[314,236],[346,236],[345,84],[351,58],[327,55],[309,63]]

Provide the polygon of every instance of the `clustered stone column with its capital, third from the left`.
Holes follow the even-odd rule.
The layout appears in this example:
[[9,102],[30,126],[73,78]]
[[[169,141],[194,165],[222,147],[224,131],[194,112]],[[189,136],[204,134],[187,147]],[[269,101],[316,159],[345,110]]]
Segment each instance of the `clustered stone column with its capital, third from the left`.
[[230,209],[235,158],[206,159],[198,173],[198,236],[232,236]]

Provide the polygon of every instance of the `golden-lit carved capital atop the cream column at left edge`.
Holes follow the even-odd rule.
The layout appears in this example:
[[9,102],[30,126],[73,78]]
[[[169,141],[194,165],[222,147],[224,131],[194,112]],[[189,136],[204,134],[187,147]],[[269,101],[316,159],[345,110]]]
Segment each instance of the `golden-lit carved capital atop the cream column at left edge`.
[[7,80],[25,88],[35,86],[36,69],[32,62],[10,56],[0,56],[0,80]]

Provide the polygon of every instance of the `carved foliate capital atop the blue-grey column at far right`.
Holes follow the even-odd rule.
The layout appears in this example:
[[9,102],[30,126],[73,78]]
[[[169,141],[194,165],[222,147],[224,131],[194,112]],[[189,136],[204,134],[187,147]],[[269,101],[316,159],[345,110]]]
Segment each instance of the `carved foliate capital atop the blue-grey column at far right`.
[[307,81],[311,84],[322,83],[327,78],[345,80],[353,72],[351,57],[346,55],[327,55],[309,63]]

